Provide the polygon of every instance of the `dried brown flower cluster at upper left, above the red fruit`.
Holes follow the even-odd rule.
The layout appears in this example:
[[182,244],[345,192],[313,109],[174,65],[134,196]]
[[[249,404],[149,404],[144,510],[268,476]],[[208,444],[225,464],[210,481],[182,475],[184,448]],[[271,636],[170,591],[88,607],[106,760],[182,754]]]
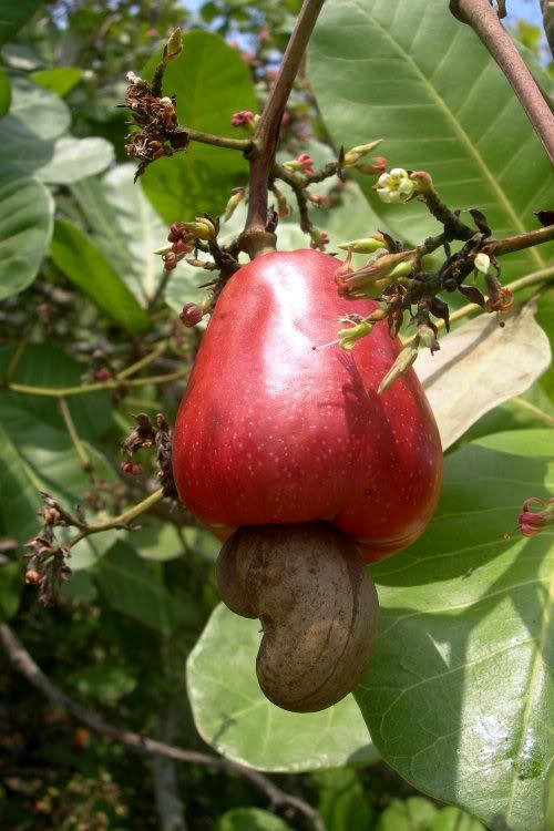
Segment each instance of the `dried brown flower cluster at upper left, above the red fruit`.
[[138,130],[129,134],[125,152],[130,158],[141,162],[136,171],[138,177],[156,158],[186,151],[188,135],[177,124],[174,98],[154,95],[151,84],[134,72],[127,72],[127,82],[125,106],[131,110],[132,123]]

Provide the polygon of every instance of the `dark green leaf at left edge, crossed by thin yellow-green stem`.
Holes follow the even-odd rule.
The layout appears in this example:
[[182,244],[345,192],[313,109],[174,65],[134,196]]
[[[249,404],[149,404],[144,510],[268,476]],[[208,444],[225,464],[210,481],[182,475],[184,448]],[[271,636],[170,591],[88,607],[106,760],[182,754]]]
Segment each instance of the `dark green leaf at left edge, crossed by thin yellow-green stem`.
[[[8,370],[16,347],[0,347],[0,377]],[[85,367],[78,363],[53,343],[29,343],[16,366],[10,380],[30,387],[79,387]],[[68,407],[81,438],[94,439],[107,431],[112,423],[112,406],[107,392],[69,396]],[[64,430],[58,399],[44,396],[0,391],[0,402],[32,413],[58,430]]]

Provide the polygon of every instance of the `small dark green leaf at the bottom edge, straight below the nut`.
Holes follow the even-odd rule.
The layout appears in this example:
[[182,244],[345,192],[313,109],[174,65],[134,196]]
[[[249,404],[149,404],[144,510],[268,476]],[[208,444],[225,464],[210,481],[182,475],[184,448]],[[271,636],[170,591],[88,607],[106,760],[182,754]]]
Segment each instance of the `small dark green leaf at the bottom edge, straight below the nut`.
[[314,773],[319,790],[318,810],[332,831],[369,831],[372,810],[363,796],[358,774],[351,768],[332,768]]

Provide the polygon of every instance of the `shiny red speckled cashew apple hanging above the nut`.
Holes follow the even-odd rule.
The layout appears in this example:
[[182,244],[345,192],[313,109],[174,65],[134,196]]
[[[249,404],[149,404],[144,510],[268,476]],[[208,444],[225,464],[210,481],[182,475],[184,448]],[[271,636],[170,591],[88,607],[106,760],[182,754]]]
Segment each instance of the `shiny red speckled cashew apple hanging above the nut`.
[[[271,252],[217,301],[175,425],[181,499],[219,536],[239,525],[329,520],[368,562],[412,543],[439,497],[439,431],[412,370],[377,388],[400,346],[386,324],[351,351],[335,257]],[[215,526],[215,527],[214,527]]]

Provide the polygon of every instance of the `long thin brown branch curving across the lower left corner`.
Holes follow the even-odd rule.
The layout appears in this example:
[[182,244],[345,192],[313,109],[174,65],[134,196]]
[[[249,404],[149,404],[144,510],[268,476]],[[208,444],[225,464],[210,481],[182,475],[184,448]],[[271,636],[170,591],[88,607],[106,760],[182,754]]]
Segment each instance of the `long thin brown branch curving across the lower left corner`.
[[212,768],[226,770],[230,773],[239,773],[252,782],[255,788],[263,791],[274,808],[293,808],[311,820],[316,831],[326,831],[324,821],[315,808],[302,799],[286,793],[271,782],[270,779],[263,773],[259,773],[257,770],[252,770],[244,765],[238,765],[228,759],[220,759],[216,756],[201,753],[195,750],[183,750],[182,748],[166,745],[162,741],[155,741],[129,730],[120,730],[92,710],[82,707],[78,701],[70,698],[70,696],[53,684],[19,642],[13,629],[7,624],[0,625],[0,640],[9,661],[14,669],[21,673],[21,675],[27,678],[35,689],[52,701],[52,704],[58,707],[63,707],[71,716],[73,716],[73,718],[81,721],[94,732],[117,741],[133,752],[143,756],[162,756],[166,759],[174,759],[175,761],[183,761],[192,765],[206,765]]

